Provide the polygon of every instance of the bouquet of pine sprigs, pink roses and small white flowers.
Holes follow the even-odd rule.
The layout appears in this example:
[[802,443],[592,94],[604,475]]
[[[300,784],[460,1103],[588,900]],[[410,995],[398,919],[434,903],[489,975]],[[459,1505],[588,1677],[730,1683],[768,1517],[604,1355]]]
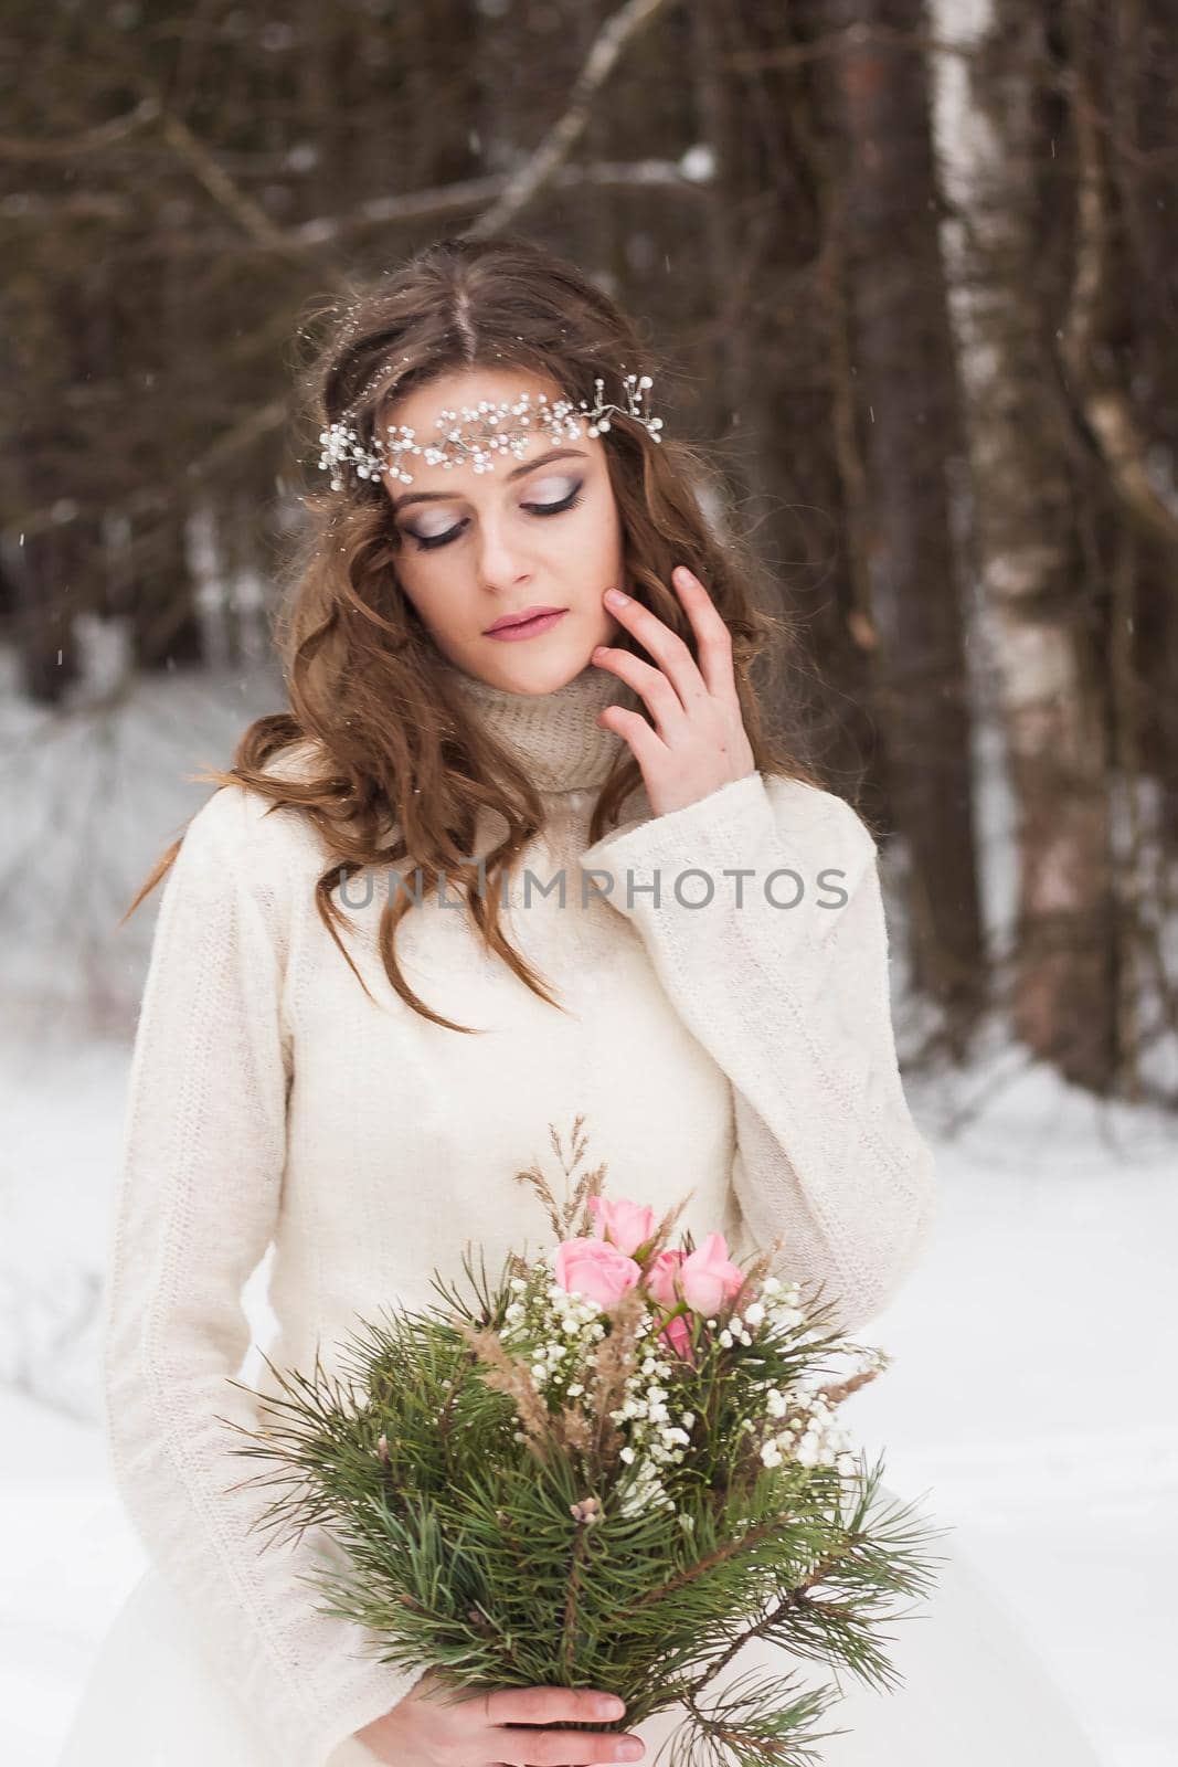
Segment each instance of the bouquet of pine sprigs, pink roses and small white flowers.
[[747,1270],[721,1233],[669,1248],[689,1198],[655,1221],[608,1200],[604,1172],[563,1209],[535,1166],[516,1173],[555,1248],[487,1283],[468,1244],[468,1293],[434,1270],[442,1304],[360,1320],[341,1373],[318,1348],[309,1375],[267,1357],[284,1396],[254,1394],[272,1421],[231,1424],[251,1438],[235,1452],[283,1468],[261,1523],[343,1548],[313,1573],[323,1612],[378,1634],[381,1661],[433,1668],[427,1696],[592,1686],[625,1700],[625,1728],[682,1705],[673,1760],[811,1760],[837,1686],[708,1687],[751,1638],[895,1684],[880,1620],[927,1594],[922,1541],[945,1530],[878,1504],[881,1461],[837,1424],[890,1359],[823,1331],[768,1274],[779,1246]]

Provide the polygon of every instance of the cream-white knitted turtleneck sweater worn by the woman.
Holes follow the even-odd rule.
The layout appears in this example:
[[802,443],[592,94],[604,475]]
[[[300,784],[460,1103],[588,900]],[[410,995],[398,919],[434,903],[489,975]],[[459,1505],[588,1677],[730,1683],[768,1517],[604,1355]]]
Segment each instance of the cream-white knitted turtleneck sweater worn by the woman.
[[[436,1302],[429,1276],[461,1281],[466,1242],[489,1272],[512,1248],[546,1248],[516,1173],[540,1161],[560,1194],[549,1124],[567,1149],[578,1115],[608,1194],[661,1214],[692,1191],[680,1228],[724,1232],[736,1258],[784,1230],[779,1274],[823,1281],[850,1331],[895,1292],[938,1207],[895,1064],[876,846],[855,811],[752,772],[661,816],[639,788],[622,829],[586,848],[593,788],[623,742],[597,714],[638,705],[632,691],[592,664],[546,696],[457,680],[546,795],[505,931],[565,1012],[484,952],[454,894],[434,894],[401,924],[404,974],[480,1030],[429,1023],[383,974],[380,891],[362,906],[353,880],[348,947],[371,1004],[311,898],[328,862],[318,836],[238,786],[187,829],[143,993],[106,1424],[131,1518],[256,1726],[260,1767],[371,1762],[351,1733],[417,1680],[318,1612],[302,1573],[330,1541],[249,1532],[274,1491],[240,1483],[268,1463],[233,1454],[242,1438],[223,1419],[256,1424],[226,1376],[249,1346],[242,1285],[270,1242],[281,1331],[263,1348],[309,1369],[316,1346],[332,1366],[357,1315]],[[583,906],[578,866],[613,892]],[[735,868],[749,873],[740,905]]]

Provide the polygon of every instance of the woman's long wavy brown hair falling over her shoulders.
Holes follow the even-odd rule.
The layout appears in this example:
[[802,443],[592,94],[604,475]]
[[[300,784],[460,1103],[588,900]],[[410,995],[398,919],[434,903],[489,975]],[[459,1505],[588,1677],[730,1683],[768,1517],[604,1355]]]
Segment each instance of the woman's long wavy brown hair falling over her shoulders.
[[[503,364],[549,376],[574,405],[583,398],[592,403],[597,376],[606,382],[606,398],[622,405],[620,375],[653,371],[666,408],[669,375],[638,327],[576,265],[521,237],[436,240],[378,283],[351,286],[318,316],[328,325],[306,375],[309,444],[328,424],[343,422],[371,447],[376,422],[413,387]],[[668,583],[680,562],[701,578],[731,633],[758,769],[819,785],[798,756],[797,737],[789,742],[770,733],[752,686],[754,663],[781,668],[793,659],[793,631],[784,617],[766,611],[775,585],[736,534],[722,474],[675,435],[662,431],[655,444],[625,410],[602,440],[631,592],[698,659],[691,620]],[[502,873],[542,829],[542,799],[447,682],[445,659],[397,580],[401,535],[383,482],[348,472],[343,489],[316,489],[302,502],[309,519],[283,567],[284,594],[274,617],[290,710],[258,717],[228,770],[207,769],[196,777],[247,786],[316,827],[334,855],[316,880],[316,908],[360,986],[364,979],[339,938],[344,922],[332,892],[367,866],[408,861],[419,868],[419,887],[434,889],[442,875],[454,882],[487,949],[563,1011],[507,942],[498,915]],[[645,656],[629,633],[615,645]],[[272,763],[306,740],[316,765],[298,779],[276,772]],[[618,825],[639,786],[641,769],[623,744],[597,795],[590,843]],[[484,855],[479,887],[470,853],[484,809],[498,811],[507,832]],[[161,855],[127,915],[168,873],[182,839]],[[415,1012],[470,1032],[434,1012],[401,975],[396,931],[412,906],[412,892],[396,889],[381,908],[380,954],[389,981]]]

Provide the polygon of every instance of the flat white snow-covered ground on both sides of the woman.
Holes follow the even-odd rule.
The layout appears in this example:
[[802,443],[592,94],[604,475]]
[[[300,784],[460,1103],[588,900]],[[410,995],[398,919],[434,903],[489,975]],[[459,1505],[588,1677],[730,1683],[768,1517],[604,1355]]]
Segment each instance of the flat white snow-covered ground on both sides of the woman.
[[[143,1553],[97,1430],[101,1279],[127,1050],[4,1048],[0,1760],[49,1767]],[[996,1053],[940,1140],[943,1209],[860,1334],[895,1357],[844,1417],[1024,1624],[1109,1767],[1178,1758],[1174,1126]],[[913,1092],[934,1131],[938,1110]],[[941,1108],[948,1103],[938,1088]],[[261,1272],[260,1272],[261,1274]],[[265,1285],[251,1285],[265,1327]],[[81,1322],[90,1320],[90,1327]],[[18,1385],[19,1384],[19,1385]],[[947,1763],[948,1767],[948,1763]]]

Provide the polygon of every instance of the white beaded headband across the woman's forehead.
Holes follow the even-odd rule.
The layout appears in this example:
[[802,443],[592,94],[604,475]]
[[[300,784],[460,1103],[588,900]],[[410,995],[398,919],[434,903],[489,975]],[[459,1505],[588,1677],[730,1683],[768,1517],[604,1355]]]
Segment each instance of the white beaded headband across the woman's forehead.
[[[581,435],[581,419],[585,417],[588,419],[586,433],[597,436],[609,429],[611,412],[638,419],[655,442],[662,442],[659,435],[662,419],[646,417],[641,410],[643,394],[652,385],[650,375],[625,375],[622,385],[625,389],[625,412],[620,405],[609,405],[602,399],[606,382],[600,376],[593,382],[597,398],[592,406],[585,399],[579,405],[574,405],[572,399],[549,403],[544,392],[533,406],[532,396],[521,392],[516,401],[503,399],[493,405],[491,399],[480,399],[477,406],[463,405],[457,412],[447,408],[434,421],[434,429],[445,433],[442,445],[419,444],[413,429],[404,424],[389,424],[389,442],[373,436],[369,451],[360,444],[360,436],[351,426],[332,424],[320,431],[323,444],[320,466],[330,470],[332,491],[343,491],[343,468],[346,466],[355,470],[357,479],[380,479],[381,474],[389,472],[401,484],[412,484],[413,475],[401,465],[404,454],[422,454],[427,466],[461,466],[463,461],[470,459],[475,472],[493,472],[495,454],[514,454],[516,459],[521,459],[528,436],[535,435],[537,429],[556,442],[576,440]],[[537,415],[535,424],[532,412]],[[517,424],[505,422],[512,417],[519,419]],[[459,419],[463,419],[461,424]]]

